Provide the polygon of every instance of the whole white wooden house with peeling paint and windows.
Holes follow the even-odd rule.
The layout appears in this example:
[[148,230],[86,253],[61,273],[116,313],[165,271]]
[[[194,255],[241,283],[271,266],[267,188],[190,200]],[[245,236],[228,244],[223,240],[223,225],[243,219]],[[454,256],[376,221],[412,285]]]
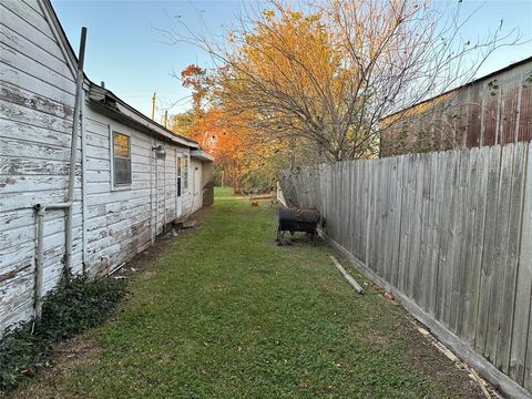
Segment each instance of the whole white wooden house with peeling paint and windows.
[[76,57],[49,0],[0,2],[0,30],[1,335],[65,263],[111,273],[212,204],[213,158],[83,76],[70,180]]

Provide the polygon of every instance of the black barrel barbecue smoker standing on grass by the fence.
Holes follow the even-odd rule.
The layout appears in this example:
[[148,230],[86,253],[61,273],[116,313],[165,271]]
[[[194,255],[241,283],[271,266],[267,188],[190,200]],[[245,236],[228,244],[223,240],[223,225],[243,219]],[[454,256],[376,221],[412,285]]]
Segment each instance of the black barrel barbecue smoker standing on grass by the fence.
[[296,232],[310,234],[313,244],[316,244],[316,228],[319,223],[319,212],[315,209],[296,209],[288,207],[279,208],[279,226],[277,227],[277,243],[285,245],[284,236],[286,232],[290,232],[294,236]]

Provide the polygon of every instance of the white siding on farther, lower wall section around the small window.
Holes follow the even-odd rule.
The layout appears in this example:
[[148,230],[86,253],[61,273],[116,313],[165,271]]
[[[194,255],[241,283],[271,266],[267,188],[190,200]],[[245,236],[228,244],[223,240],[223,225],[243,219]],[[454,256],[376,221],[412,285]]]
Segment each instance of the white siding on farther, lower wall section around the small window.
[[[131,137],[132,183],[121,190],[112,186],[111,131]],[[165,224],[175,219],[175,150],[182,153],[190,150],[152,139],[90,105],[85,111],[85,267],[99,273],[112,270],[145,249]],[[165,147],[165,157],[156,157],[152,151],[152,146],[160,144]],[[185,195],[182,201],[190,208],[186,203],[191,197]]]

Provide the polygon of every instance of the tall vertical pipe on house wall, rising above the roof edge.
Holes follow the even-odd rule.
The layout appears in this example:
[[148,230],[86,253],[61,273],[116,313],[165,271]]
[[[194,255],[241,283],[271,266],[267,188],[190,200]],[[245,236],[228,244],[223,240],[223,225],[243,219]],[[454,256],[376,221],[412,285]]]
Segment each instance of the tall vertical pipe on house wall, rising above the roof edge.
[[64,224],[64,229],[66,232],[65,237],[65,250],[64,250],[64,275],[66,282],[70,280],[72,274],[72,219],[73,219],[73,206],[72,202],[74,201],[74,185],[75,185],[75,151],[78,147],[78,134],[80,132],[80,111],[81,111],[81,99],[83,90],[83,62],[85,59],[85,41],[86,41],[86,28],[81,28],[81,38],[80,38],[80,53],[78,57],[78,75],[75,79],[75,103],[74,103],[74,117],[72,126],[72,140],[70,145],[70,174],[69,174],[69,188],[66,194],[66,203],[70,203],[70,206],[66,208],[66,221]]

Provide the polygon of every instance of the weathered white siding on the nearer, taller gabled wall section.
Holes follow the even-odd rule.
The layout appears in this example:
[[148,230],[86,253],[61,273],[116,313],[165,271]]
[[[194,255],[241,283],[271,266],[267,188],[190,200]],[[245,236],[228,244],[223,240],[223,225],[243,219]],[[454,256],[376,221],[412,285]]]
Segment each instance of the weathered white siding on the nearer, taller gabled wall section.
[[[2,1],[0,334],[7,326],[32,315],[35,267],[32,206],[65,198],[74,90],[72,73],[37,1]],[[74,272],[79,272],[81,163],[75,167],[73,265]],[[64,211],[51,211],[44,224],[44,291],[58,283],[63,255]]]

